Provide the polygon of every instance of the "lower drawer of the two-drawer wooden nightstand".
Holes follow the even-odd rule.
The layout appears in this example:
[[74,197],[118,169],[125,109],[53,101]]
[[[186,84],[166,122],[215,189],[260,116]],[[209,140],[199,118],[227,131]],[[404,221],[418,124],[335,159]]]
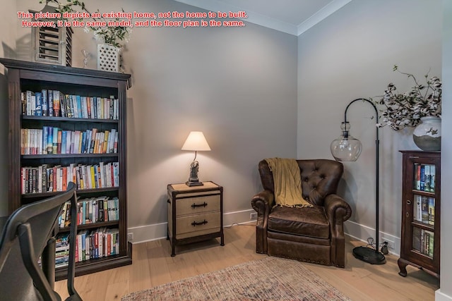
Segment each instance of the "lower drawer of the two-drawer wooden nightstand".
[[179,217],[176,220],[176,238],[189,238],[220,231],[220,211]]

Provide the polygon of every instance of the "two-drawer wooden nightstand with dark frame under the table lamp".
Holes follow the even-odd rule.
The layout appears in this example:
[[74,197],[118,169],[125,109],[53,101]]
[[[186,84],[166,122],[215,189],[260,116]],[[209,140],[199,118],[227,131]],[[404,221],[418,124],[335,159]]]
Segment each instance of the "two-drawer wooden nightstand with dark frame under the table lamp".
[[168,234],[171,256],[176,245],[221,238],[223,234],[223,188],[213,182],[189,187],[168,185]]

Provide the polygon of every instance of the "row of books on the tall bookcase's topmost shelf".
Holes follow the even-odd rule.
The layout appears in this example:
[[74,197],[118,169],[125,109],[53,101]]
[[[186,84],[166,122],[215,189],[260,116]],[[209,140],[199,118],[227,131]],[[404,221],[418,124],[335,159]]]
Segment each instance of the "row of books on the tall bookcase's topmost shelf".
[[89,119],[119,119],[119,101],[114,96],[89,97],[58,90],[27,90],[20,94],[22,114]]

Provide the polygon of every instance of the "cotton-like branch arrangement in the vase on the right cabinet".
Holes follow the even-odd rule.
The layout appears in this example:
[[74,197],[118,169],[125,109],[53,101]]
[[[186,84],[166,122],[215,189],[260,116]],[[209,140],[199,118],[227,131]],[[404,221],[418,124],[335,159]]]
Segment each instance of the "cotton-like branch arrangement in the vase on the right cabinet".
[[412,78],[415,86],[410,92],[398,93],[396,85],[392,82],[388,84],[388,89],[376,105],[383,106],[382,112],[383,124],[388,125],[393,130],[401,130],[407,126],[415,127],[421,122],[422,117],[437,116],[441,117],[441,80],[434,76],[428,79],[424,75],[425,84],[416,80],[415,75],[404,73],[394,66],[393,71],[398,71],[408,78]]

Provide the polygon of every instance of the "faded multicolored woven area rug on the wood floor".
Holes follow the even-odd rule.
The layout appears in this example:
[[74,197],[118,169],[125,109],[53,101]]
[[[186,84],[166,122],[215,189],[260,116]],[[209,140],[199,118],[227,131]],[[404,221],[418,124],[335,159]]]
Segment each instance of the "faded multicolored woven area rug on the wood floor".
[[122,297],[141,300],[350,300],[301,262],[266,257]]

